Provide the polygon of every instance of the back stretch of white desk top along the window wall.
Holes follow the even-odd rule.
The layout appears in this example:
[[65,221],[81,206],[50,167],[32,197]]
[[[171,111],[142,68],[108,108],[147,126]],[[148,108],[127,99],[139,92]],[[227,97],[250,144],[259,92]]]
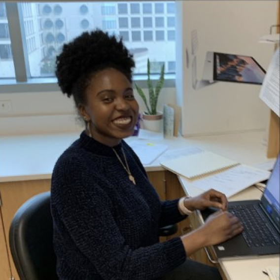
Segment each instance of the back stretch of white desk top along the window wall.
[[[78,137],[77,133],[0,137],[0,182],[49,179],[59,155]],[[263,131],[164,139],[157,143],[167,144],[169,149],[198,146],[249,165],[267,161]],[[163,170],[159,158],[145,168]]]

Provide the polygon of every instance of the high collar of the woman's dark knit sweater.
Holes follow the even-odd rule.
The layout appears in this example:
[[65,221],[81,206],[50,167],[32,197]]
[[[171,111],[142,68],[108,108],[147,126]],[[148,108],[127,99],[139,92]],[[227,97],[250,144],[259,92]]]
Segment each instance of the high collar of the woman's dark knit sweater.
[[89,137],[85,130],[80,134],[80,138],[78,140],[79,142],[79,145],[84,148],[85,150],[87,151],[90,151],[96,155],[102,155],[102,156],[114,156],[115,157],[115,154],[113,152],[113,149],[114,148],[116,150],[116,152],[121,152],[121,147],[124,143],[124,140],[121,140],[121,142],[114,146],[114,147],[110,147],[110,146],[107,146],[91,137]]

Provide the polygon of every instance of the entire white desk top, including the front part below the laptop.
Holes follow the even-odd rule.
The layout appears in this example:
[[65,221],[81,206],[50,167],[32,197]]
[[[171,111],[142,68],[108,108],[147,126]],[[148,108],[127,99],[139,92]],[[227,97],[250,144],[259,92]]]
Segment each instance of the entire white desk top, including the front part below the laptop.
[[[78,134],[31,135],[0,137],[0,182],[50,179],[54,163],[58,156]],[[129,141],[132,139],[128,139]],[[158,143],[169,145],[169,149],[198,146],[216,152],[243,164],[255,165],[266,162],[264,132],[248,132],[229,135],[201,136],[188,139],[175,138],[160,140]],[[147,171],[159,171],[160,158]],[[182,184],[185,192],[194,196],[198,189]],[[254,199],[261,195],[256,188],[248,188],[231,199]],[[223,261],[223,269],[228,280],[268,280],[262,269],[268,265],[279,265],[277,258],[262,258],[240,261]]]

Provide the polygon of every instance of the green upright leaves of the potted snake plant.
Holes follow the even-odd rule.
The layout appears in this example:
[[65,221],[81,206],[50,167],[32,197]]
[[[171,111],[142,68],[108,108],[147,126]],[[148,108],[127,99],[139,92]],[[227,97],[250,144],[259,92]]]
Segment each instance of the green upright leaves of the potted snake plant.
[[160,77],[159,77],[158,81],[156,82],[155,88],[153,87],[152,81],[150,79],[150,61],[149,61],[149,59],[147,62],[147,74],[148,74],[147,86],[148,86],[149,104],[147,102],[147,99],[146,99],[146,96],[145,96],[143,90],[138,86],[137,83],[135,83],[135,87],[136,87],[138,94],[142,98],[144,104],[146,105],[147,111],[145,113],[148,115],[156,115],[158,97],[159,97],[160,91],[164,85],[164,64],[161,67]]

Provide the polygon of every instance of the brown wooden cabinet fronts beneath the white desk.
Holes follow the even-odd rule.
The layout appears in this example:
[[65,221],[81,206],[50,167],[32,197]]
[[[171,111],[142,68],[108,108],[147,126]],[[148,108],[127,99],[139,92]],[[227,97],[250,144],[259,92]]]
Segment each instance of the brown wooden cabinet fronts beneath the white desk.
[[[157,190],[160,199],[171,200],[185,195],[177,176],[169,171],[148,172],[148,177],[152,185]],[[3,226],[0,226],[0,280],[10,280],[11,273],[15,280],[20,280],[16,272],[10,250],[9,250],[9,227],[15,212],[19,207],[32,196],[50,190],[50,179],[28,180],[3,182],[0,184],[1,195],[1,220]],[[178,231],[175,235],[168,238],[161,238],[161,241],[180,236],[192,229],[191,220],[185,219],[178,223]],[[5,236],[4,236],[5,233]],[[5,244],[5,238],[7,244]],[[204,261],[204,257],[197,254],[199,260]],[[193,257],[194,258],[194,257]]]

